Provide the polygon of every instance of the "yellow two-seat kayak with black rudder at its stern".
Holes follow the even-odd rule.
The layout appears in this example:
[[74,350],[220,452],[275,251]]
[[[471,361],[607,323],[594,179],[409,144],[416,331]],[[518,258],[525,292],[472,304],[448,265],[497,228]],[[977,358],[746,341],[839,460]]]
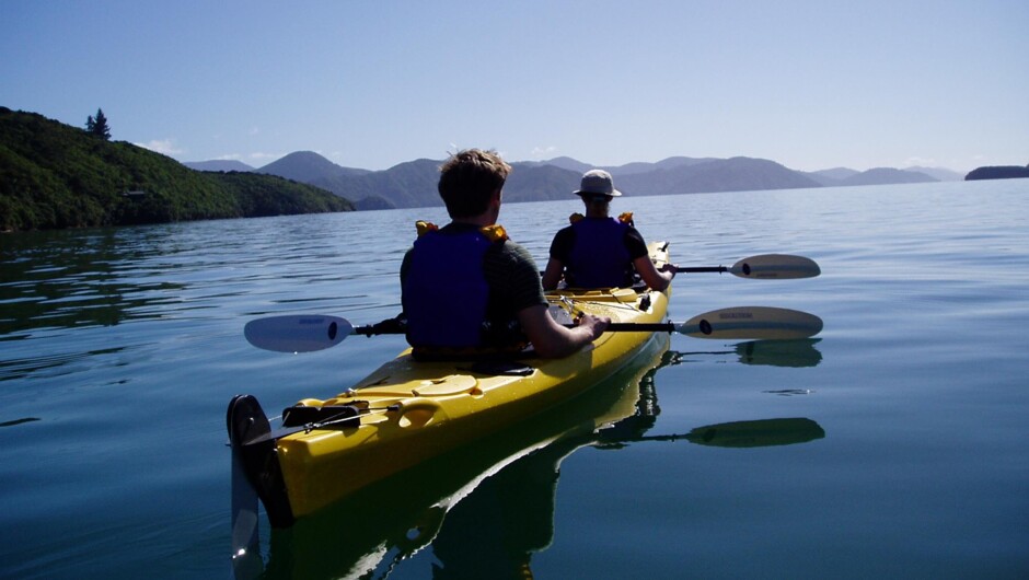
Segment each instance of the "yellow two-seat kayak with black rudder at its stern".
[[[668,263],[668,244],[650,258]],[[670,288],[558,290],[554,309],[660,323]],[[416,361],[401,352],[327,399],[305,398],[273,430],[257,399],[239,395],[228,411],[233,462],[256,489],[274,527],[290,526],[377,482],[539,415],[629,364],[654,332],[609,332],[560,359],[531,352],[511,360]],[[666,343],[667,344],[667,343]]]

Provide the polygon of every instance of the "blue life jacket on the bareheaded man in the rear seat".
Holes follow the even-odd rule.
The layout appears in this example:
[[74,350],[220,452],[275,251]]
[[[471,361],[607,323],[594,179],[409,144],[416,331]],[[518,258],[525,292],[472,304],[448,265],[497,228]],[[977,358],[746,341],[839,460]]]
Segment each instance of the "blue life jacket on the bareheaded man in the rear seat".
[[493,244],[478,230],[429,231],[415,241],[403,285],[412,346],[482,346],[489,300],[483,258]]

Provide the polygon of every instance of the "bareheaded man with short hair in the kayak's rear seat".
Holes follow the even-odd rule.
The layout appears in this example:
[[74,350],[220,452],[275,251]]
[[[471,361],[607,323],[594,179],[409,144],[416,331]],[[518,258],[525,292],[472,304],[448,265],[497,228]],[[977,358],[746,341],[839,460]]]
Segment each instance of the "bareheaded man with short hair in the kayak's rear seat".
[[440,167],[439,194],[451,222],[419,222],[401,266],[407,340],[416,357],[514,352],[570,355],[597,339],[609,318],[585,315],[575,327],[547,313],[540,270],[497,225],[511,166],[493,151],[470,149]]

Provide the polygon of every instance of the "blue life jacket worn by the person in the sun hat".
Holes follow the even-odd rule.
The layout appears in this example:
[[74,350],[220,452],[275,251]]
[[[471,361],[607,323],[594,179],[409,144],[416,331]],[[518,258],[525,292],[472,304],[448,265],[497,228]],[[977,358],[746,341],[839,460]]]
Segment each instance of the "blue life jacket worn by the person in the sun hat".
[[614,288],[632,286],[633,258],[625,247],[629,225],[614,218],[586,218],[571,224],[575,244],[566,264],[569,286]]

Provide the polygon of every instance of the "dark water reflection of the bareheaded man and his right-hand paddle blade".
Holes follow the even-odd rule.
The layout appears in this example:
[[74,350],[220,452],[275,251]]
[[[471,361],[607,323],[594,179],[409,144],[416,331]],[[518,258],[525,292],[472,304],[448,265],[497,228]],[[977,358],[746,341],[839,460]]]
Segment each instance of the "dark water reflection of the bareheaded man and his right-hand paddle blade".
[[679,352],[666,351],[660,364],[644,374],[633,415],[589,436],[559,440],[521,457],[487,477],[451,508],[431,544],[438,559],[432,564],[432,578],[532,578],[532,554],[546,549],[554,540],[560,462],[579,448],[618,449],[634,442],[675,440],[753,448],[803,443],[825,436],[816,421],[805,418],[732,421],[698,427],[685,434],[646,436],[661,413],[655,374],[681,360]]

